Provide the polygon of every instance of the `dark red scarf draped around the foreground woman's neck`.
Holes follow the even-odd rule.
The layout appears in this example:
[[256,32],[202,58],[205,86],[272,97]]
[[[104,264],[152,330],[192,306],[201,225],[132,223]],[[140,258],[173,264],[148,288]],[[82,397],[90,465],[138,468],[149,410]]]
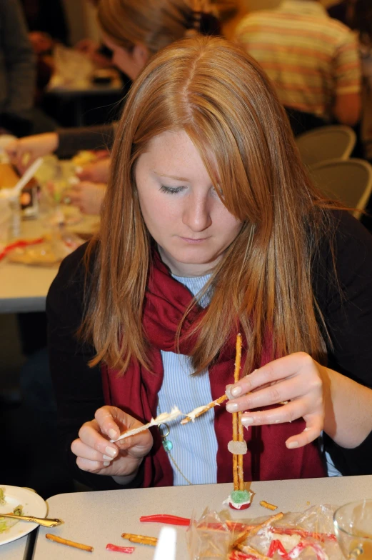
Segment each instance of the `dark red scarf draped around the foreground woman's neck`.
[[[149,274],[148,290],[144,305],[144,331],[151,344],[152,372],[132,360],[124,376],[107,367],[102,368],[106,404],[119,406],[142,422],[156,416],[158,393],[163,382],[164,369],[161,350],[176,352],[175,337],[184,312],[193,296],[186,286],[172,278],[169,270],[154,254]],[[181,331],[179,351],[189,355],[194,344],[187,339],[191,324],[195,324],[203,310],[194,306],[188,314]],[[208,370],[212,399],[223,395],[226,384],[233,383],[236,333],[231,335],[218,357],[216,364]],[[242,356],[244,358],[244,356]],[[270,361],[268,352],[261,356],[261,366]],[[179,403],[174,403],[176,406]],[[232,481],[232,455],[227,450],[232,437],[232,421],[225,406],[216,406],[214,427],[218,441],[217,482]],[[183,411],[188,412],[188,411]],[[244,430],[248,453],[244,456],[244,474],[249,480],[300,479],[326,476],[316,443],[300,449],[286,449],[286,439],[305,428],[303,419],[287,424],[254,426]],[[184,426],[187,430],[187,425]],[[173,471],[159,436],[151,429],[154,446],[144,459],[144,486],[171,486]],[[198,441],[195,441],[198,445]]]

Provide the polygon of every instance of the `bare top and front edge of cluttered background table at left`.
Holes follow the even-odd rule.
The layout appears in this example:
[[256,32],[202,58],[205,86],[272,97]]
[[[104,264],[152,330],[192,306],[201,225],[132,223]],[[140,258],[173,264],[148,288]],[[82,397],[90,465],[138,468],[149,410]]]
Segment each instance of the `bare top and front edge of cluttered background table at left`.
[[[72,231],[91,231],[98,224],[98,216],[84,216]],[[21,238],[35,239],[47,230],[40,220],[21,222]],[[45,311],[46,294],[59,266],[26,266],[0,261],[0,313]]]

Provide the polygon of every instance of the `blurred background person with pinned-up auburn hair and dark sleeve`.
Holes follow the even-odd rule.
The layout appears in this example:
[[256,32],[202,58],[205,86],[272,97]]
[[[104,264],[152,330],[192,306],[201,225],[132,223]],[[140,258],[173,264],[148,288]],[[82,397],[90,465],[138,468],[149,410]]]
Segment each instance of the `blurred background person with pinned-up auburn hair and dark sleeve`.
[[[135,79],[149,58],[159,49],[181,39],[193,29],[195,14],[203,11],[201,25],[203,31],[219,34],[213,14],[218,7],[231,16],[236,6],[234,0],[193,1],[193,0],[101,0],[98,19],[106,46],[113,53],[112,62],[130,79]],[[195,8],[196,6],[196,8]],[[130,17],[129,17],[130,14]],[[209,14],[209,15],[207,15]],[[213,28],[214,26],[214,28]],[[29,154],[31,164],[37,157],[51,152],[60,158],[71,157],[80,149],[111,148],[116,124],[84,129],[61,129],[52,134],[42,134],[15,141],[8,146],[8,153],[14,164],[23,171],[22,161]],[[104,186],[109,175],[110,160],[90,164],[79,173],[84,181],[79,187],[66,194],[66,200],[84,209],[91,209],[91,200],[97,204],[104,189],[97,189],[93,183]]]

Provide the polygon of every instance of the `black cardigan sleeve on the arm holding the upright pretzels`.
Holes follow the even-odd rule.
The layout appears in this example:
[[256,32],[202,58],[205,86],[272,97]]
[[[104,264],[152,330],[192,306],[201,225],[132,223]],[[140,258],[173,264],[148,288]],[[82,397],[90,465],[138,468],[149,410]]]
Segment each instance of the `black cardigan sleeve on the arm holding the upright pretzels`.
[[[328,366],[372,389],[372,236],[347,212],[336,213],[335,279],[329,245],[323,246],[314,291],[331,339]],[[326,450],[344,475],[372,473],[372,433],[355,449],[325,436]]]

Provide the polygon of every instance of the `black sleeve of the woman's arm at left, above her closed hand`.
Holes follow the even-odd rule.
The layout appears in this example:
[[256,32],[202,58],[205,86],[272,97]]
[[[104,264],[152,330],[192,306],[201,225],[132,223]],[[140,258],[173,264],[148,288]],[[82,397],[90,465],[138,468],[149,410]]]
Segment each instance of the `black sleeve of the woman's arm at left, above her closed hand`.
[[[97,409],[104,406],[101,370],[98,366],[88,366],[94,348],[76,338],[83,314],[85,249],[86,245],[81,246],[64,259],[46,300],[49,363],[58,409],[59,439],[64,461],[74,479],[92,489],[117,489],[122,482],[79,468],[76,454],[71,451],[82,426],[94,422]],[[141,476],[139,469],[134,479],[124,479],[124,482],[131,487],[140,486]]]

